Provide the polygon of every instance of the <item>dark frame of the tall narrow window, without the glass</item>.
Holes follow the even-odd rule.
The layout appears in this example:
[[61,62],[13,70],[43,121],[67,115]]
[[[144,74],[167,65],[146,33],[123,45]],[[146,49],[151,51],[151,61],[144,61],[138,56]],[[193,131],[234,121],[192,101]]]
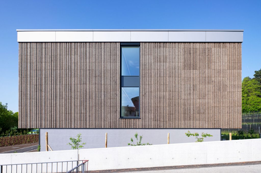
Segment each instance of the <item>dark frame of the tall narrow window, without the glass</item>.
[[[140,43],[120,43],[120,119],[140,119],[140,68],[139,68],[139,86],[122,86],[122,75],[121,75],[121,68],[122,68],[122,47],[139,47],[140,51]],[[139,67],[140,67],[140,54],[139,54]],[[124,75],[123,75],[124,76]],[[132,76],[129,76],[132,77]],[[137,75],[134,77],[137,77]],[[121,108],[121,102],[122,102],[122,88],[139,88],[139,116],[138,117],[122,117],[122,108]]]

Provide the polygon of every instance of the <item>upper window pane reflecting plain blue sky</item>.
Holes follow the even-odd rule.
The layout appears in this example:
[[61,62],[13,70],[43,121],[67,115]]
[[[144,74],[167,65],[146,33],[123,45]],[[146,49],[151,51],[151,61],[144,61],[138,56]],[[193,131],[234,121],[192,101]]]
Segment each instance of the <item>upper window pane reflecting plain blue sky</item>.
[[139,76],[140,71],[140,48],[121,47],[121,75]]

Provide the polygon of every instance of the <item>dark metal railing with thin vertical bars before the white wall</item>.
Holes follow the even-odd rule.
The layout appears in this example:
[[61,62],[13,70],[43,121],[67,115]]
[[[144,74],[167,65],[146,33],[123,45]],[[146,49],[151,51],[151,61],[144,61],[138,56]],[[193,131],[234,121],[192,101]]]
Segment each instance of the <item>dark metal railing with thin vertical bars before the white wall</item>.
[[88,172],[88,160],[0,165],[0,173],[60,173],[79,170]]

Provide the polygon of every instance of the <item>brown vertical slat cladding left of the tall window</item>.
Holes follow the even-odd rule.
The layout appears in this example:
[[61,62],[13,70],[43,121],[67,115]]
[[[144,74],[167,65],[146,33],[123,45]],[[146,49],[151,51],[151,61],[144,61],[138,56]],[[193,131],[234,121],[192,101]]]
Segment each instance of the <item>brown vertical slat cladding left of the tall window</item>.
[[19,128],[118,127],[120,43],[19,43]]

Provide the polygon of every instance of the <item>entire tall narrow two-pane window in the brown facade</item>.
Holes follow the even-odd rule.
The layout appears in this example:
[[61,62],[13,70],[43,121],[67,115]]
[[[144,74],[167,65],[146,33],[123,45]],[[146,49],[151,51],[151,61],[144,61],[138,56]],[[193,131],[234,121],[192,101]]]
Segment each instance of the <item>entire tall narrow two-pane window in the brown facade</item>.
[[139,75],[139,43],[121,43],[121,118],[140,117]]

